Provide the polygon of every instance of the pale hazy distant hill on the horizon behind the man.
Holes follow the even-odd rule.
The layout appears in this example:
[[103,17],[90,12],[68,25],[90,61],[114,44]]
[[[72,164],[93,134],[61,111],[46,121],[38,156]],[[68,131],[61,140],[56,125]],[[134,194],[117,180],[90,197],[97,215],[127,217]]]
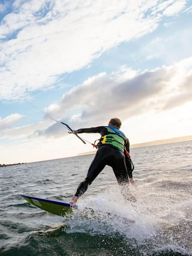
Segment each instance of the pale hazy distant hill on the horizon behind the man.
[[[143,147],[148,147],[148,146],[177,143],[177,142],[190,141],[190,140],[192,140],[192,135],[175,137],[175,138],[170,138],[170,139],[165,139],[165,140],[153,140],[153,141],[144,142],[144,143],[132,144],[132,145],[130,145],[130,148],[143,148]],[[95,154],[95,153],[96,153],[96,150],[93,150],[93,151],[80,153],[80,154],[78,154],[78,156],[83,156],[83,155],[87,155],[87,154]]]

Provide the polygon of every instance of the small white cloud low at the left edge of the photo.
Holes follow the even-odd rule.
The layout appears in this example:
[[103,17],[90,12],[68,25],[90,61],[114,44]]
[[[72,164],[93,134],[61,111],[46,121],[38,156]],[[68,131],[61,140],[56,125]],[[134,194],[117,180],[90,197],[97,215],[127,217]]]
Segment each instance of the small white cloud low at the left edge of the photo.
[[24,116],[17,113],[6,116],[3,119],[0,117],[0,131],[15,126],[22,118]]

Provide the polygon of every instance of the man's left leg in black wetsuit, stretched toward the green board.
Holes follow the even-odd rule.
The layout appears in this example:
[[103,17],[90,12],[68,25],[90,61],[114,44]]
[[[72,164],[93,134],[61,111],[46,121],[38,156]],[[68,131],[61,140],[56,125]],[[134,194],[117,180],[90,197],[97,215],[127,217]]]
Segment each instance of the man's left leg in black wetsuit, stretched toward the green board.
[[96,152],[96,155],[89,167],[86,178],[79,184],[75,196],[78,198],[84,194],[88,186],[99,175],[99,173],[106,166],[111,154],[111,148],[109,146],[102,146]]

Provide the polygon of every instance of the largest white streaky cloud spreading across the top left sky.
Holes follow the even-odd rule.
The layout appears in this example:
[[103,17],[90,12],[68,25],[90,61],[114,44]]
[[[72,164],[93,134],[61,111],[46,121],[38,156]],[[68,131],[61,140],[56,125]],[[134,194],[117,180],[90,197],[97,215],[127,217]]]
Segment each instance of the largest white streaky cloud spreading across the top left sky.
[[57,86],[64,73],[86,67],[121,42],[154,31],[162,18],[160,12],[153,13],[158,4],[158,0],[113,0],[110,5],[91,0],[15,1],[13,12],[0,24],[0,99],[18,99]]

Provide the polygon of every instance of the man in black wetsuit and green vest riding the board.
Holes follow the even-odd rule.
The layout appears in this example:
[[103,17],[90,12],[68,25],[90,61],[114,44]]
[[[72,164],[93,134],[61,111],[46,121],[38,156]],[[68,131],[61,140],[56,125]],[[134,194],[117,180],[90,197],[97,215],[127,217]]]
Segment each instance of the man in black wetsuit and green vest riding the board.
[[[83,128],[74,131],[73,134],[81,133],[100,133],[98,150],[89,167],[86,178],[79,184],[75,195],[70,204],[76,204],[78,198],[86,192],[88,186],[99,175],[106,165],[113,168],[117,182],[122,188],[124,198],[129,201],[135,201],[134,196],[127,195],[127,188],[129,181],[134,184],[132,176],[131,161],[128,157],[129,140],[125,134],[119,130],[122,122],[119,118],[112,118],[108,126],[99,126],[93,128]],[[126,154],[127,151],[127,154]],[[126,189],[125,189],[126,188]],[[126,193],[126,195],[125,195]]]

